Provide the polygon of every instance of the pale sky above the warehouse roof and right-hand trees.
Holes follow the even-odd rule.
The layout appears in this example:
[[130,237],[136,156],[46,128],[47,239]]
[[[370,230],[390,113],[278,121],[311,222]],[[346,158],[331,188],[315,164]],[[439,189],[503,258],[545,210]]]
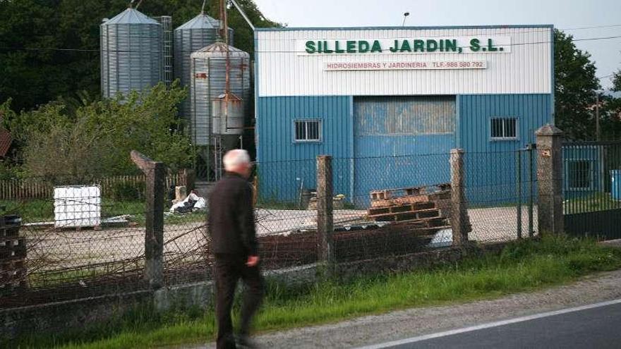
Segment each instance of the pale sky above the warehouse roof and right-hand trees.
[[[553,24],[591,54],[603,88],[621,69],[621,0],[255,0],[263,15],[289,27]],[[584,29],[589,27],[590,29]],[[596,27],[596,28],[593,28]]]

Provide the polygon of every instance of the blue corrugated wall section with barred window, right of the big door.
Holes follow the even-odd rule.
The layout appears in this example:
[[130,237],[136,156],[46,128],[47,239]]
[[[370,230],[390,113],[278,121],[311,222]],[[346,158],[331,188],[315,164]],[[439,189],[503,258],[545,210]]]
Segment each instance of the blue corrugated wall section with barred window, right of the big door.
[[[535,131],[552,122],[551,94],[460,95],[457,147],[466,152],[466,197],[471,204],[494,206],[517,200],[517,149],[535,142]],[[517,140],[490,140],[490,119],[517,117]],[[527,180],[526,154],[522,178]],[[536,171],[536,170],[533,170]],[[526,185],[523,197],[528,195]]]

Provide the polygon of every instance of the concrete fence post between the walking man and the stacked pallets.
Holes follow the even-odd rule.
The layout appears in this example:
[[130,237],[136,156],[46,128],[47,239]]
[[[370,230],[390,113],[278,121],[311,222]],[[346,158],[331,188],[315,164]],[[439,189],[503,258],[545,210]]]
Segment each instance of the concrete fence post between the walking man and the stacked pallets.
[[332,233],[332,157],[317,157],[317,240],[320,262],[334,262]]

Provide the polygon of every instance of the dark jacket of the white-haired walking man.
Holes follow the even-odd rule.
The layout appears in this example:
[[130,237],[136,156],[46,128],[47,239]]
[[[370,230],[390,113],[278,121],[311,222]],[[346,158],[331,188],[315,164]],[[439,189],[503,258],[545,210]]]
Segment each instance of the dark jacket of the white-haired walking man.
[[243,177],[227,172],[209,197],[212,253],[257,255],[253,189]]

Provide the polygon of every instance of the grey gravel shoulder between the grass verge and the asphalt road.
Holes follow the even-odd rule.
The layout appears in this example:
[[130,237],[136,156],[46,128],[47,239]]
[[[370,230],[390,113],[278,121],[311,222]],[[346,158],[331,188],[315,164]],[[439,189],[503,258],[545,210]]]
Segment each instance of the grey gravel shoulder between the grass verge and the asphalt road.
[[[621,298],[621,270],[495,300],[423,307],[255,337],[261,348],[354,348]],[[183,349],[215,348],[214,343]]]

